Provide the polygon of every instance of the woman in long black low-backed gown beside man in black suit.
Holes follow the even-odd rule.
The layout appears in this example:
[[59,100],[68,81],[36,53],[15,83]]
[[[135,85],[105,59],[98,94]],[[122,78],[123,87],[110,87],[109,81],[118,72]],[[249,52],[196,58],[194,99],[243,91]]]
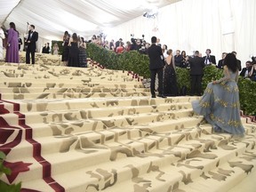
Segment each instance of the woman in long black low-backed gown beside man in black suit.
[[164,95],[165,96],[177,96],[178,86],[175,72],[175,62],[172,57],[172,50],[167,51],[167,57],[165,58],[164,66]]

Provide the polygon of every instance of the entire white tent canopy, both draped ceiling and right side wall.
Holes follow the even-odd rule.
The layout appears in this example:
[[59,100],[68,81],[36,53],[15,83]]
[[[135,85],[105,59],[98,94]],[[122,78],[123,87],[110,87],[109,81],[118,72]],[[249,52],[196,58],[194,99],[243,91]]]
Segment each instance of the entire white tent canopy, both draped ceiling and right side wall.
[[[173,51],[204,55],[210,48],[217,60],[236,51],[243,65],[256,55],[255,0],[0,0],[0,7],[5,28],[13,21],[22,36],[27,22],[36,26],[39,47],[68,30],[87,39],[100,32],[108,40],[157,36]],[[142,16],[154,9],[156,17]]]

